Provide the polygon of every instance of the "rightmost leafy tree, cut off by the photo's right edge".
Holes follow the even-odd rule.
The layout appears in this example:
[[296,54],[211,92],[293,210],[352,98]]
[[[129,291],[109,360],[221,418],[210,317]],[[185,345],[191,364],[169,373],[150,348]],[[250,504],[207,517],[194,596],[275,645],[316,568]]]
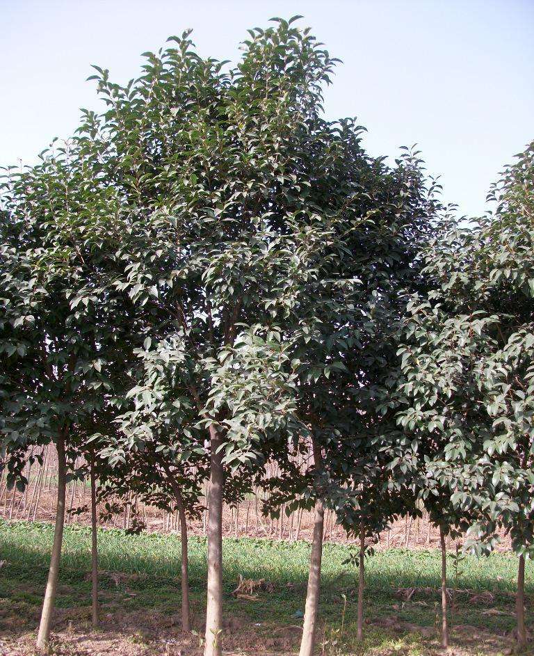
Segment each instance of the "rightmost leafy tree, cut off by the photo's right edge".
[[524,646],[524,559],[534,554],[534,142],[505,167],[488,199],[496,209],[480,226],[476,291],[498,312],[499,330],[498,348],[488,353],[481,377],[493,419],[484,445],[492,466],[486,459],[480,467],[484,488],[491,490],[483,509],[490,522],[499,519],[510,531],[519,555],[517,640]]

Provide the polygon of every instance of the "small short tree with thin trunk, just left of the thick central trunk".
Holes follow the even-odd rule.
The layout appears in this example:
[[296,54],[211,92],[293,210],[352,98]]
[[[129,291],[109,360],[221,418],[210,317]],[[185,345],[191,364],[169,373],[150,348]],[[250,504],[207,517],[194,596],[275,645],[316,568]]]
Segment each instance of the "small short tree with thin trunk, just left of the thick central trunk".
[[[133,492],[145,503],[179,513],[181,534],[181,626],[191,630],[188,586],[187,517],[202,511],[200,497],[209,472],[204,431],[184,387],[181,340],[154,344],[147,337],[137,349],[139,364],[130,378],[138,384],[127,392],[133,408],[115,418],[118,433],[99,451],[106,461],[104,495]],[[184,393],[185,392],[185,393]]]

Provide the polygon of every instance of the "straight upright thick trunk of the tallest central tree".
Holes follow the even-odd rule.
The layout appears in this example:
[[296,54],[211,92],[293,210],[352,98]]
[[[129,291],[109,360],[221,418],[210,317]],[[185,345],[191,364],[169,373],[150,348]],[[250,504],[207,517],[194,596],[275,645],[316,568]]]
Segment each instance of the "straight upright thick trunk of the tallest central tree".
[[209,427],[211,467],[208,504],[208,599],[204,656],[223,653],[223,452],[218,431]]

